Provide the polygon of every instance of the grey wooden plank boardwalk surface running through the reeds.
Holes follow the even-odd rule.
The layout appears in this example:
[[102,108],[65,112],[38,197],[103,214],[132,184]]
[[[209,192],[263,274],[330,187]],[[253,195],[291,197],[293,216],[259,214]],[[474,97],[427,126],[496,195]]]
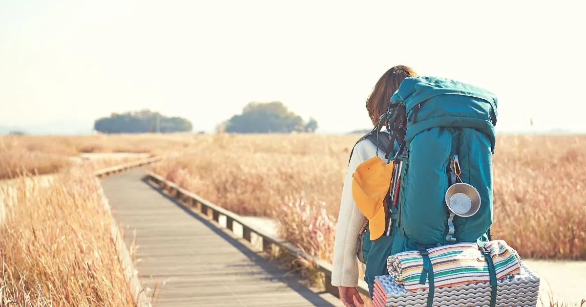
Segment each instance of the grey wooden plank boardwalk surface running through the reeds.
[[128,247],[136,231],[144,288],[161,287],[154,306],[343,306],[284,276],[274,262],[142,181],[143,174],[138,168],[101,183]]

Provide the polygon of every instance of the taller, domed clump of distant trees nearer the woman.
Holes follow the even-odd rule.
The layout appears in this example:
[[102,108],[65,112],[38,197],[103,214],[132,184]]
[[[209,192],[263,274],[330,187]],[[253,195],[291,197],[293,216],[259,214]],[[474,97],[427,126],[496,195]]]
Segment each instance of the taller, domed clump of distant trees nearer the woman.
[[242,114],[232,116],[216,127],[217,131],[236,133],[313,132],[318,127],[315,119],[305,123],[301,116],[290,112],[282,102],[251,102]]

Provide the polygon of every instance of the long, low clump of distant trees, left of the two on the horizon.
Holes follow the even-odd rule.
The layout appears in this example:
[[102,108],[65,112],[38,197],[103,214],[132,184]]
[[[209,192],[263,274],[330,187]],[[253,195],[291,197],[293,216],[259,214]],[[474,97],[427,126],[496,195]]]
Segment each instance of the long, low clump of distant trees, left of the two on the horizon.
[[140,110],[122,114],[112,113],[94,122],[94,129],[101,133],[147,133],[192,131],[191,122],[181,117],[166,117],[158,112]]

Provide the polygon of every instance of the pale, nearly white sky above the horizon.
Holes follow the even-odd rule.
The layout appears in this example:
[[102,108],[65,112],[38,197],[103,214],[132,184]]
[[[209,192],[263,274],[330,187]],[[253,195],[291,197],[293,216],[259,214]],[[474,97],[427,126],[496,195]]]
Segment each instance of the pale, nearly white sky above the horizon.
[[0,0],[0,126],[91,130],[146,108],[212,131],[248,102],[280,100],[345,132],[370,126],[364,102],[401,64],[496,93],[497,130],[533,117],[586,131],[584,12],[578,1]]

